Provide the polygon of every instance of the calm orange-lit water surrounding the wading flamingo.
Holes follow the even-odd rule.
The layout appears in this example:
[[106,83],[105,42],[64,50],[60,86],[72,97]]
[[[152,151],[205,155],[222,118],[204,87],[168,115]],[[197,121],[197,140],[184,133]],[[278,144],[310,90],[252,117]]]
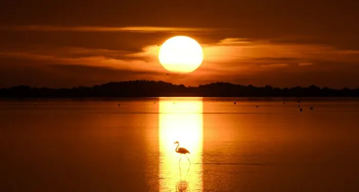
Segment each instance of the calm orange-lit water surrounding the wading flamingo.
[[359,191],[359,100],[283,102],[2,101],[0,191]]

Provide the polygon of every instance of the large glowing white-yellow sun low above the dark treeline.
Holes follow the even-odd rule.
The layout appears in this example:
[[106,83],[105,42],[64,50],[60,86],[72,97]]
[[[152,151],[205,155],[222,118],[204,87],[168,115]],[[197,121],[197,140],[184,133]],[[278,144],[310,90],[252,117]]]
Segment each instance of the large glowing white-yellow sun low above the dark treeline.
[[186,36],[175,36],[162,44],[158,59],[162,66],[172,73],[186,74],[201,65],[203,51],[196,40]]

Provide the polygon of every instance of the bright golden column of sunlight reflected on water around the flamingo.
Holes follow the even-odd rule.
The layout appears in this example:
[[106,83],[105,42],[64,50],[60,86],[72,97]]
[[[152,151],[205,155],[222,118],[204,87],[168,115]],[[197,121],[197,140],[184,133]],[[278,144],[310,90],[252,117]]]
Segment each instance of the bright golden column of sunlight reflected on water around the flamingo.
[[[179,147],[191,154],[179,162]],[[203,188],[202,98],[159,99],[159,191],[197,191]],[[198,163],[198,164],[197,164]],[[182,189],[182,190],[181,190]]]

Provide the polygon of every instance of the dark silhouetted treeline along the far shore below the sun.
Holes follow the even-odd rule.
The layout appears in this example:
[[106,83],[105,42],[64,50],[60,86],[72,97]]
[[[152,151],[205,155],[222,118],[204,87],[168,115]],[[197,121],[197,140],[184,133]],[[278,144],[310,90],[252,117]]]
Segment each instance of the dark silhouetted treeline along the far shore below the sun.
[[217,82],[197,87],[163,81],[110,82],[92,87],[31,88],[14,86],[0,89],[2,98],[84,98],[84,97],[359,97],[357,89],[309,87],[273,88]]

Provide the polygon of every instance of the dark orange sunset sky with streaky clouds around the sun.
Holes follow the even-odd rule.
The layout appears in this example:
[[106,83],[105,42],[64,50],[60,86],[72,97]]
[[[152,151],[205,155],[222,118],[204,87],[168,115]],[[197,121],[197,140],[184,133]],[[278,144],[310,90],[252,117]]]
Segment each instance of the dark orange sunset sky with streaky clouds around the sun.
[[[4,1],[0,87],[155,80],[359,87],[358,1]],[[166,75],[157,44],[203,47],[202,65]]]

